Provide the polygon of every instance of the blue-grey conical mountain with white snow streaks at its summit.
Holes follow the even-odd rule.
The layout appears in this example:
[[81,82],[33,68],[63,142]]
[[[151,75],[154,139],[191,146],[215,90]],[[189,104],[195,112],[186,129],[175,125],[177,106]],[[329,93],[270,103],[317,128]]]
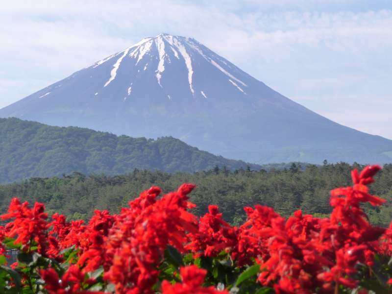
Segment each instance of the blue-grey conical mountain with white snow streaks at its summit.
[[134,137],[173,136],[256,163],[392,161],[391,140],[334,123],[195,39],[168,34],[73,73],[1,109],[0,117]]

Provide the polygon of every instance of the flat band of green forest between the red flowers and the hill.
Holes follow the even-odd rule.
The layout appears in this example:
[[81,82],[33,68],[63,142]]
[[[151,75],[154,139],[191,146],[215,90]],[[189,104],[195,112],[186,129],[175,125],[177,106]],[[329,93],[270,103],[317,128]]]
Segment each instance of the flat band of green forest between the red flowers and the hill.
[[[350,171],[363,166],[346,163],[322,166],[301,166],[270,171],[237,169],[225,166],[205,172],[159,172],[135,169],[123,175],[104,175],[74,172],[50,178],[30,178],[0,186],[0,210],[5,212],[12,197],[46,204],[50,213],[60,212],[69,219],[88,219],[94,209],[118,212],[130,199],[152,185],[164,193],[176,190],[184,182],[197,185],[191,201],[197,207],[193,213],[203,215],[208,204],[218,204],[223,217],[232,224],[245,219],[244,206],[262,204],[273,207],[283,216],[302,209],[305,213],[324,216],[330,213],[329,191],[352,184]],[[387,226],[392,219],[392,164],[384,165],[375,177],[371,193],[387,200],[379,208],[366,206],[373,224]]]

